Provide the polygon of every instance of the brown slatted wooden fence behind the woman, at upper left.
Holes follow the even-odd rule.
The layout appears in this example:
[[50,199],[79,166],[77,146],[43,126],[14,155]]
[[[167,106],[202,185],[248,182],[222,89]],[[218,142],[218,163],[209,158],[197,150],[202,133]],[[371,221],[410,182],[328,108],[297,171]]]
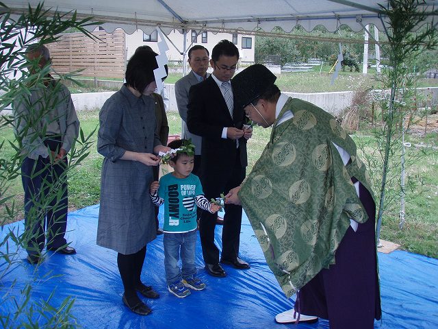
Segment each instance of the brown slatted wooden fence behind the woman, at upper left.
[[92,32],[100,40],[81,33],[63,34],[57,42],[47,45],[52,68],[58,73],[79,73],[85,77],[125,77],[126,41],[123,29],[113,33]]

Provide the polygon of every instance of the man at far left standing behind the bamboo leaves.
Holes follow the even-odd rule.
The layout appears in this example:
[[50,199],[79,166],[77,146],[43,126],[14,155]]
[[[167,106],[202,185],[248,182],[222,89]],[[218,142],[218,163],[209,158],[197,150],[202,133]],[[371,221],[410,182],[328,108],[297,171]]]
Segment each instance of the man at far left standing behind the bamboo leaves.
[[[50,53],[43,45],[26,50],[31,73],[47,69]],[[44,70],[45,71],[45,70]],[[43,83],[30,88],[14,102],[16,134],[25,158],[21,166],[25,192],[27,261],[40,261],[44,241],[47,249],[76,254],[64,234],[67,226],[67,153],[79,134],[79,120],[66,86],[47,73]]]

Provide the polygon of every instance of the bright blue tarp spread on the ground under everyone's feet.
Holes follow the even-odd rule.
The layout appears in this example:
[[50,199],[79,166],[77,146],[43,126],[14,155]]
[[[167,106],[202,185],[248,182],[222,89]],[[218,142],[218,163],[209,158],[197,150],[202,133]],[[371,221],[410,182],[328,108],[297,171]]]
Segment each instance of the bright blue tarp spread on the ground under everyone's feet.
[[[76,255],[49,252],[37,269],[27,264],[25,252],[19,255],[21,260],[8,269],[0,282],[2,315],[14,307],[11,295],[19,296],[29,280],[37,280],[31,298],[46,300],[55,291],[52,304],[59,305],[64,298],[75,297],[73,315],[82,328],[294,328],[274,322],[277,313],[292,308],[294,297],[287,300],[283,295],[246,217],[242,221],[240,254],[251,268],[238,271],[226,266],[226,278],[208,276],[198,241],[196,265],[207,289],[193,291],[183,299],[170,295],[166,289],[162,236],[149,243],[142,281],[161,296],[146,301],[153,313],[142,317],[131,313],[121,302],[123,285],[116,252],[96,245],[98,212],[99,206],[90,206],[68,214],[66,237],[73,241]],[[22,232],[23,221],[4,226],[1,239],[8,230]],[[218,226],[218,245],[220,233]],[[379,253],[378,258],[383,319],[376,321],[374,328],[438,328],[438,260],[400,251]],[[5,263],[1,262],[3,272]],[[53,277],[47,279],[47,275]],[[13,289],[7,294],[10,287]],[[329,324],[320,319],[316,324],[300,324],[298,328],[329,328]]]

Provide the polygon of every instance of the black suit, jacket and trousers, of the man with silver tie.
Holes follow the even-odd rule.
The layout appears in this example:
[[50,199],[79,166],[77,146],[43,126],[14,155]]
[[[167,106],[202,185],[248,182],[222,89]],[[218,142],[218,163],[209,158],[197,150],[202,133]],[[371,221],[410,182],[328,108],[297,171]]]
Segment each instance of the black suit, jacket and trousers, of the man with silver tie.
[[[246,139],[236,141],[222,138],[224,127],[242,129],[244,110],[234,99],[233,118],[222,96],[220,88],[210,77],[190,88],[187,125],[193,134],[202,136],[201,182],[207,199],[227,194],[231,188],[239,186],[245,178]],[[222,228],[221,259],[235,260],[239,255],[242,206],[226,204],[224,226]],[[219,263],[219,249],[214,243],[216,214],[203,212],[199,223],[199,235],[206,264]]]

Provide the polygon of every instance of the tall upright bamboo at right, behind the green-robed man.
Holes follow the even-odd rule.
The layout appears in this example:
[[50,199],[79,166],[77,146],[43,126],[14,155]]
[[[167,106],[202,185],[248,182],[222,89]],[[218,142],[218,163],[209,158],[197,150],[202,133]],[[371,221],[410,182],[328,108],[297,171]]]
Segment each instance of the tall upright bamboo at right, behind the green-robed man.
[[[419,53],[432,51],[438,45],[437,27],[433,22],[415,33],[415,29],[428,22],[429,17],[438,15],[438,10],[426,13],[422,7],[424,4],[426,1],[389,0],[386,7],[381,5],[388,26],[385,29],[387,44],[382,45],[382,50],[388,58],[389,68],[383,70],[380,77],[382,86],[387,89],[378,95],[383,125],[374,130],[382,160],[377,239],[387,204],[387,184],[398,180],[398,168],[404,166],[405,120],[409,118],[419,77],[415,74],[415,59]],[[400,196],[404,196],[403,184]],[[404,210],[400,211],[400,217],[403,216],[400,221],[404,221],[402,212]]]

